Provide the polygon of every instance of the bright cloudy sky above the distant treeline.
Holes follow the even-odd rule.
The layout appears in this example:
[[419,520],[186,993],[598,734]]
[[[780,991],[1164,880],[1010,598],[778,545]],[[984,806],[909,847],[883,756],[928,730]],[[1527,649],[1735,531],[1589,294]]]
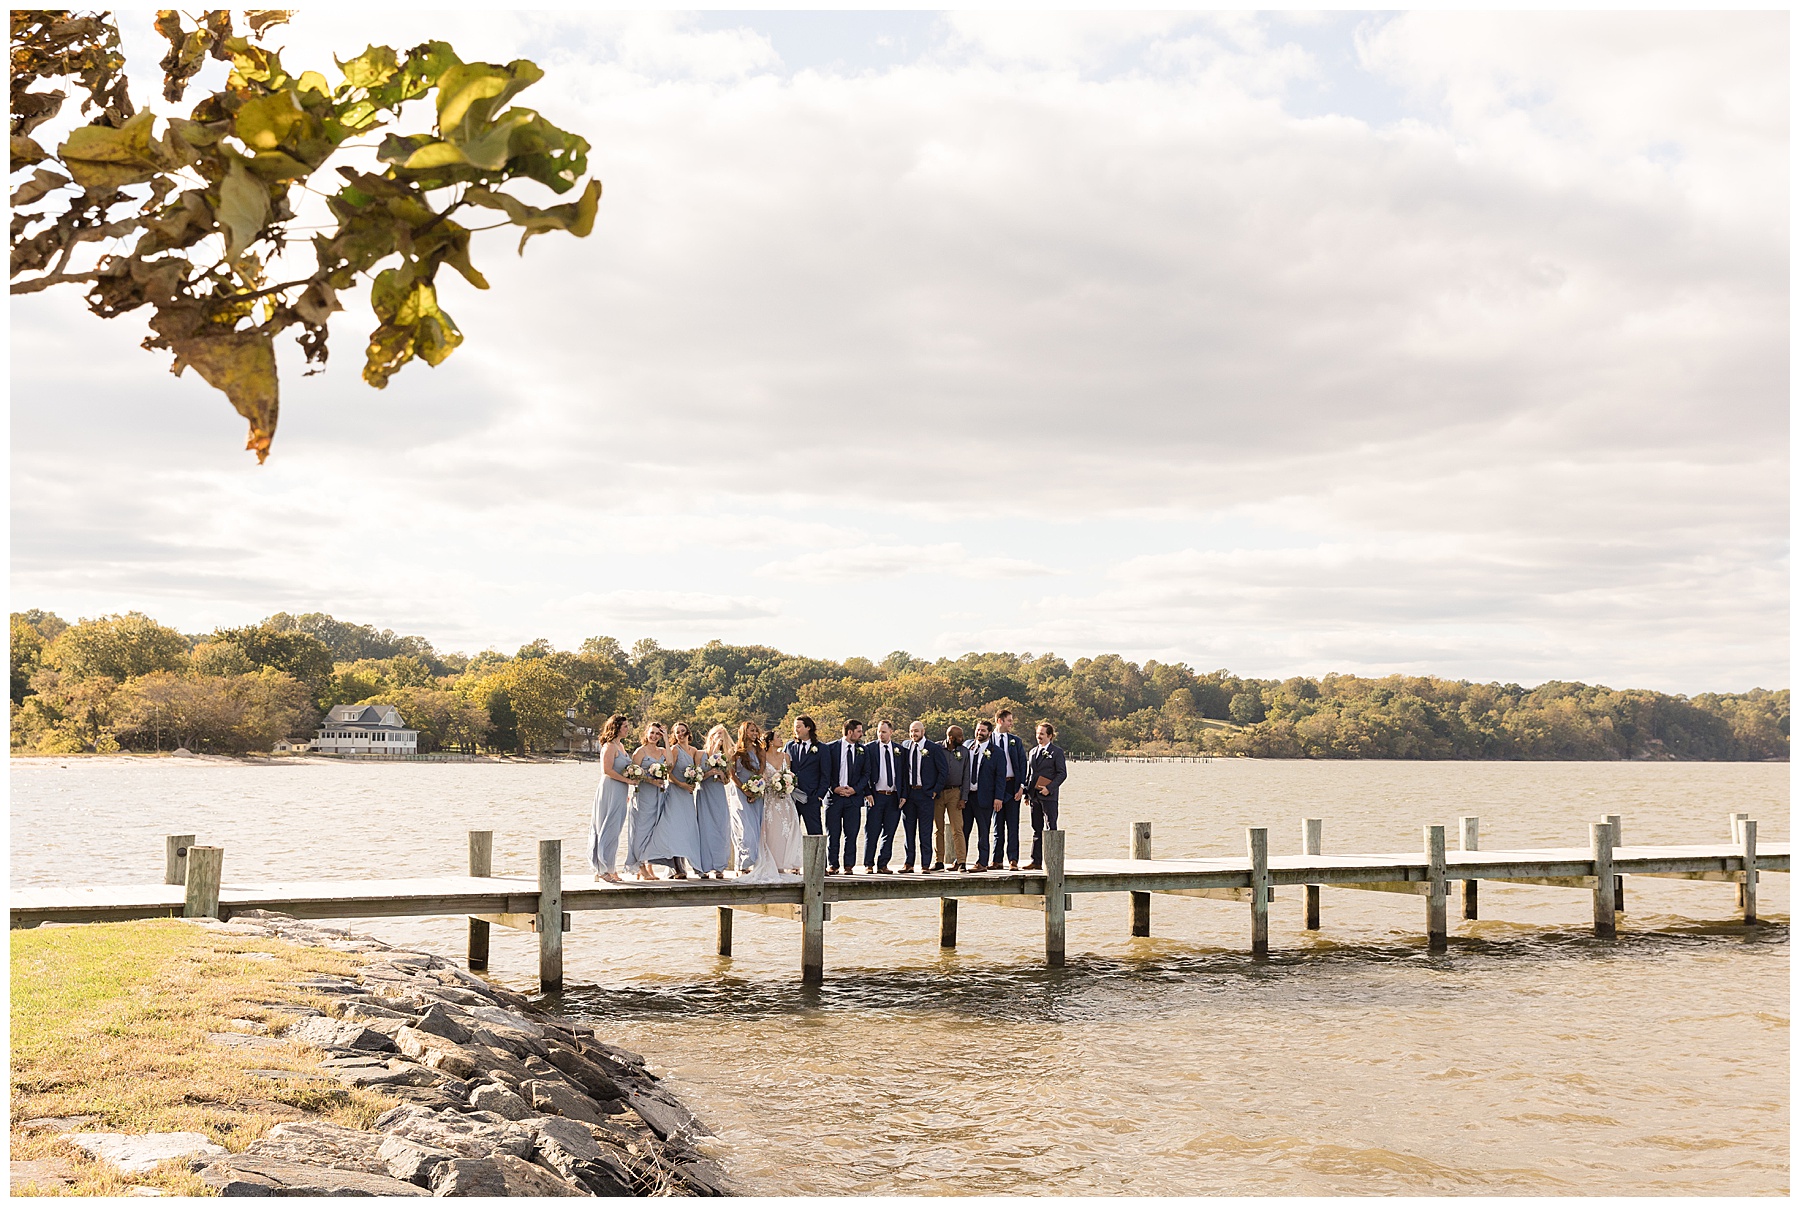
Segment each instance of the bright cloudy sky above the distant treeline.
[[517,103],[592,142],[592,236],[477,236],[466,344],[387,390],[365,306],[324,374],[288,342],[261,468],[140,320],[14,300],[14,610],[1787,685],[1784,13],[270,41],[427,38],[545,68]]

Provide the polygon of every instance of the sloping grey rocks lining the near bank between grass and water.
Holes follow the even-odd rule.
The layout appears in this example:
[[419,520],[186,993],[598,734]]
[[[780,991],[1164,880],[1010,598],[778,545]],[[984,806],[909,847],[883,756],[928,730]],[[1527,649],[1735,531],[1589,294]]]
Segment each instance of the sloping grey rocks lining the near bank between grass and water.
[[[319,1074],[261,1070],[369,1088],[398,1106],[360,1131],[295,1119],[241,1153],[191,1158],[223,1196],[716,1196],[724,1171],[693,1148],[711,1135],[644,1068],[643,1056],[536,1009],[437,955],[250,910],[227,932],[365,957],[355,979],[295,989],[328,1009],[268,1004],[279,1036],[220,1033],[236,1047],[302,1043]],[[279,1027],[274,1025],[270,1031]]]

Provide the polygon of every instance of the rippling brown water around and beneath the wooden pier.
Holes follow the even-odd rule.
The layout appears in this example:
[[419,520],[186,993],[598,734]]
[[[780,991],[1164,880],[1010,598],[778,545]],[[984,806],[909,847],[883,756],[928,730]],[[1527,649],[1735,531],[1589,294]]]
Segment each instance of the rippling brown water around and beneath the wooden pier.
[[[13,763],[13,883],[160,880],[162,836],[225,847],[227,883],[531,874],[562,836],[585,880],[596,770],[567,764]],[[1244,826],[1300,849],[1411,851],[1420,826],[1483,818],[1483,845],[1579,845],[1622,813],[1627,844],[1724,840],[1728,811],[1787,838],[1787,766],[1604,763],[1075,764],[1069,854],[1242,853]],[[758,1194],[1780,1194],[1787,1191],[1787,876],[1755,932],[1730,885],[1627,881],[1622,937],[1586,932],[1588,894],[1483,885],[1483,921],[1424,950],[1417,898],[1247,908],[1080,896],[1069,966],[1042,919],[965,905],[954,953],[936,903],[835,907],[826,986],[797,984],[797,926],[713,910],[576,914],[565,1009],[646,1052],[711,1122]],[[1456,910],[1453,910],[1454,916]],[[459,952],[461,919],[358,925]],[[529,988],[529,934],[493,971]]]

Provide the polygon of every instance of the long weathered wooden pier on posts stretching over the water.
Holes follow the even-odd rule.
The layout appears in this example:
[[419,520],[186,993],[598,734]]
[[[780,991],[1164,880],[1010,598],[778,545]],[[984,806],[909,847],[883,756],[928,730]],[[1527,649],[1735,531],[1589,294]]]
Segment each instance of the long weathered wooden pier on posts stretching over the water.
[[[1480,818],[1458,826],[1458,849],[1447,849],[1445,827],[1426,826],[1417,853],[1325,854],[1321,818],[1301,824],[1300,854],[1271,854],[1269,831],[1246,831],[1246,854],[1152,858],[1150,824],[1138,822],[1130,858],[1069,860],[1064,831],[1044,835],[1044,871],[940,872],[913,876],[826,876],[824,836],[806,835],[803,876],[792,883],[745,885],[734,880],[662,880],[655,883],[562,881],[562,842],[538,842],[536,880],[493,876],[493,833],[470,831],[468,876],[421,880],[344,880],[236,885],[223,880],[225,851],[196,845],[193,835],[171,835],[162,885],[14,889],[11,925],[126,921],[135,917],[220,917],[234,910],[277,910],[295,917],[430,917],[466,916],[468,964],[488,966],[490,926],[538,935],[538,982],[562,989],[563,934],[583,910],[715,908],[718,953],[731,955],[733,912],[765,914],[801,923],[801,979],[824,979],[824,923],[832,905],[851,901],[940,901],[940,943],[956,946],[958,908],[1001,905],[1044,916],[1044,959],[1060,966],[1067,912],[1080,894],[1129,894],[1129,934],[1150,934],[1152,894],[1211,898],[1249,905],[1249,948],[1269,953],[1271,903],[1289,898],[1305,907],[1305,926],[1323,925],[1327,889],[1391,892],[1424,898],[1426,943],[1449,943],[1449,899],[1460,883],[1462,916],[1478,916],[1478,885],[1487,881],[1580,889],[1593,896],[1595,935],[1611,939],[1624,910],[1625,876],[1724,881],[1737,887],[1735,910],[1757,921],[1757,878],[1786,872],[1789,844],[1757,844],[1757,822],[1728,815],[1730,840],[1701,845],[1624,845],[1624,818],[1593,822],[1582,847],[1483,851]],[[1282,892],[1285,890],[1285,892]]]

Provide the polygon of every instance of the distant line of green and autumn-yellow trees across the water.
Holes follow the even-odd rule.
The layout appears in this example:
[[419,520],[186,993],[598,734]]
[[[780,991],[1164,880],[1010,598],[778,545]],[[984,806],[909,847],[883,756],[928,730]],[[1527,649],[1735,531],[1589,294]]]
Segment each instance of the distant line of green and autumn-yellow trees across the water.
[[[1285,680],[1138,666],[1116,655],[968,653],[828,662],[707,642],[441,653],[421,637],[324,613],[184,635],[142,613],[67,624],[13,613],[13,748],[268,750],[310,738],[337,703],[392,703],[419,750],[542,752],[610,712],[634,721],[774,723],[801,712],[923,720],[932,736],[999,707],[1051,720],[1076,755],[1246,754],[1307,759],[1786,759],[1787,689],[1669,696],[1588,684],[1433,676]],[[569,720],[569,711],[574,720]]]

